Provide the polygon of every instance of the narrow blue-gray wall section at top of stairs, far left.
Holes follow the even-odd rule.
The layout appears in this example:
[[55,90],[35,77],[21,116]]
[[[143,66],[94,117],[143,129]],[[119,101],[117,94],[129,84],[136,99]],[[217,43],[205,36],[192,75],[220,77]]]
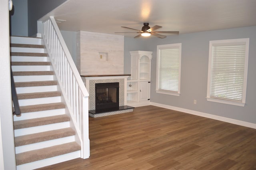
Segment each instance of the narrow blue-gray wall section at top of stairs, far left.
[[10,35],[28,36],[28,0],[12,0],[13,15],[10,16]]

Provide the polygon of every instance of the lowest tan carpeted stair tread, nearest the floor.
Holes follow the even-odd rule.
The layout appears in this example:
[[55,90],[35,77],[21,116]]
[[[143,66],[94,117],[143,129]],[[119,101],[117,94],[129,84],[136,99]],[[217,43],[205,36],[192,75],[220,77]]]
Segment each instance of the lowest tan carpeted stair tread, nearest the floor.
[[81,146],[79,144],[77,144],[76,142],[70,142],[57,146],[51,146],[48,148],[23,152],[20,154],[16,154],[16,165],[26,164],[37,160],[43,160],[62,154],[68,154],[71,152],[76,152],[80,149]]

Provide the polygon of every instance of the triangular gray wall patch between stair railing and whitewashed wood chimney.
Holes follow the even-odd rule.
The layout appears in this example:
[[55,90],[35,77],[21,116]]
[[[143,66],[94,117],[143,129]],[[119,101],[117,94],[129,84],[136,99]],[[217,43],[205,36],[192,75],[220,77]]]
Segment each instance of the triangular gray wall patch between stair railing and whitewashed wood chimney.
[[62,37],[68,47],[68,50],[76,64],[76,32],[60,31]]

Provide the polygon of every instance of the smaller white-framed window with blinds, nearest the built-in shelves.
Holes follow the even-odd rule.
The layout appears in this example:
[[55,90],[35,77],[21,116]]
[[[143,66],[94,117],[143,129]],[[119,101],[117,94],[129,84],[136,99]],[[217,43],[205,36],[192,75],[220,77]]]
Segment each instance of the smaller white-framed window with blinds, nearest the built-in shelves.
[[181,43],[157,46],[156,92],[180,95]]

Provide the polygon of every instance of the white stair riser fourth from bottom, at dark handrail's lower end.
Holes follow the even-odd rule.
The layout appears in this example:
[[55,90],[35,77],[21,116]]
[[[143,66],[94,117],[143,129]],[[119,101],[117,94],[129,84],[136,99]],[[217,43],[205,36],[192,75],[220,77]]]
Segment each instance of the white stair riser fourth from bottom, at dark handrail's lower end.
[[54,109],[54,110],[44,110],[39,112],[28,112],[28,113],[22,113],[22,116],[13,116],[14,121],[18,120],[27,120],[27,119],[34,119],[34,118],[44,118],[48,116],[57,116],[65,114],[65,109]]

